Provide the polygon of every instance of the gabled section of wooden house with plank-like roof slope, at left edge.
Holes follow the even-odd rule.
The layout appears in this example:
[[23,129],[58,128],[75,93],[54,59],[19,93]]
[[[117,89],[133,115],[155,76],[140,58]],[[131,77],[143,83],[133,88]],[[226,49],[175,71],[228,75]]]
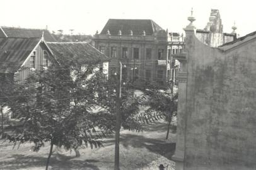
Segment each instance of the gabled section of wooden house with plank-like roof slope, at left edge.
[[0,38],[0,72],[24,81],[35,69],[49,67],[54,60],[44,38]]

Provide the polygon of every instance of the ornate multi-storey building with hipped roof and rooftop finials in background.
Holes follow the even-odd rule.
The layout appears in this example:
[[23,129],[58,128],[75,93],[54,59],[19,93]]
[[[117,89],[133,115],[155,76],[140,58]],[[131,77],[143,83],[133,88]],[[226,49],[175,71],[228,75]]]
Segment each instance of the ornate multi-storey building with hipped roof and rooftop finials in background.
[[115,72],[115,59],[123,65],[123,79],[166,84],[172,79],[172,54],[183,52],[184,37],[163,30],[152,20],[107,21],[93,38],[95,47],[112,58],[110,74]]

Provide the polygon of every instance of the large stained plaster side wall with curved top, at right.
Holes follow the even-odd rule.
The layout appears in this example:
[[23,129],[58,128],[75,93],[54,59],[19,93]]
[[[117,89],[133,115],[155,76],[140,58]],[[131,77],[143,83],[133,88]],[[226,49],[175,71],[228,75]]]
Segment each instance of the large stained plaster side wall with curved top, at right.
[[225,50],[186,37],[184,169],[256,169],[256,37]]

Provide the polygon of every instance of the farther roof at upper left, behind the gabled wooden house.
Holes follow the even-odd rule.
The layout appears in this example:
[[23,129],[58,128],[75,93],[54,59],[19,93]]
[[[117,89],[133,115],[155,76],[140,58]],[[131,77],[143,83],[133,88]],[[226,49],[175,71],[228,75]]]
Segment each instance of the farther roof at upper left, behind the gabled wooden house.
[[1,26],[0,37],[3,37],[3,31],[9,38],[41,38],[44,32],[44,39],[46,42],[56,42],[55,38],[50,34],[49,30],[45,29],[28,29]]

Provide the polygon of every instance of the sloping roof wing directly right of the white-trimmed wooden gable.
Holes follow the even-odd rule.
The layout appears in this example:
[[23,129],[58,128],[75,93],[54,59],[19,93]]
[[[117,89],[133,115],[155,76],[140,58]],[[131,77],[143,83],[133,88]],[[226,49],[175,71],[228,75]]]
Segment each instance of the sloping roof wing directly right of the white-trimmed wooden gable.
[[86,42],[49,42],[47,45],[59,62],[63,55],[76,57],[81,64],[110,60],[109,57]]

